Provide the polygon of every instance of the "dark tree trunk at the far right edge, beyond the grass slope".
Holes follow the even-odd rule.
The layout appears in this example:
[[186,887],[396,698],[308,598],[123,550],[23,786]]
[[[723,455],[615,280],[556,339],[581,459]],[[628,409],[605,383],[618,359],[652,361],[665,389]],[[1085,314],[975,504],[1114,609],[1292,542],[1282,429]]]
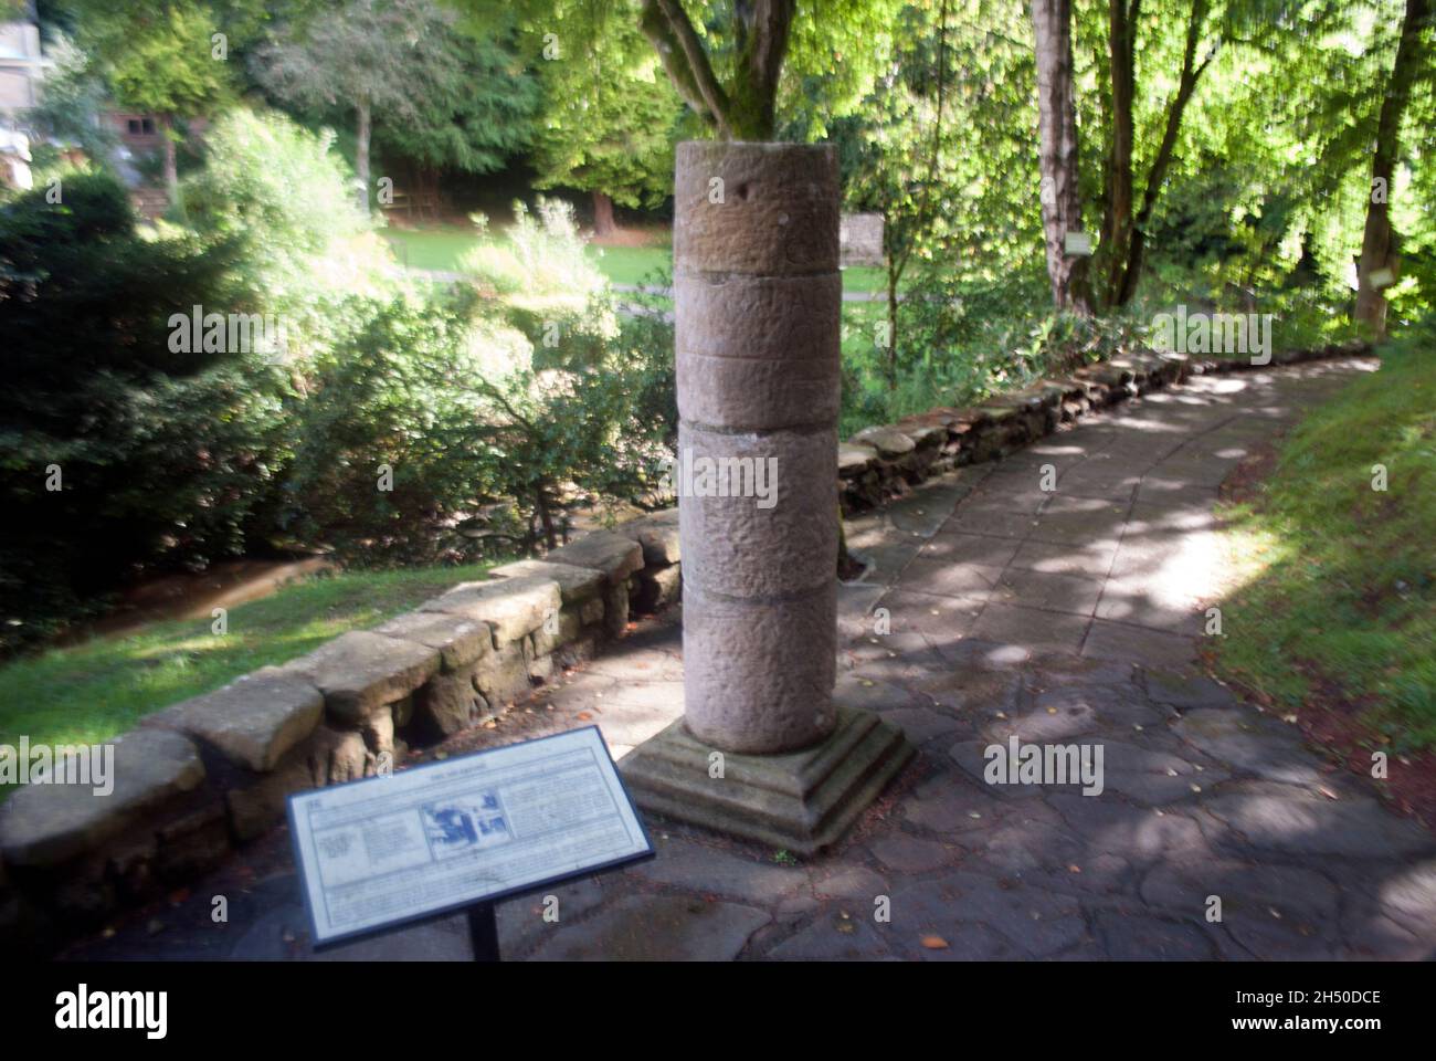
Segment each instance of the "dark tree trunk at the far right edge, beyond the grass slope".
[[1376,157],[1371,160],[1371,187],[1367,191],[1366,230],[1361,234],[1361,257],[1357,260],[1356,319],[1377,336],[1386,335],[1386,295],[1371,283],[1371,273],[1383,269],[1394,272],[1397,265],[1396,234],[1387,198],[1391,174],[1396,170],[1397,138],[1402,115],[1410,96],[1412,82],[1422,69],[1422,29],[1430,20],[1427,0],[1406,0],[1402,20],[1402,40],[1396,47],[1391,78],[1381,99],[1381,116],[1376,129]]

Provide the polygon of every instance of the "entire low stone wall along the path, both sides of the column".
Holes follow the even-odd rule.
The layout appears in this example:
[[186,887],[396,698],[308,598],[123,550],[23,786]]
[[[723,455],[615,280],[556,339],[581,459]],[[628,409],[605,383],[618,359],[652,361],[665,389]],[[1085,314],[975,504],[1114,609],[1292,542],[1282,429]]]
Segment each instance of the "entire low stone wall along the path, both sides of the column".
[[[1354,355],[1351,344],[1274,358]],[[839,446],[844,512],[995,460],[1225,361],[1140,354],[976,408],[933,410]],[[0,807],[0,943],[53,942],[192,881],[276,825],[296,791],[370,776],[481,726],[679,598],[678,510],[495,568],[383,625],[146,716],[115,738],[113,792],[27,785]]]

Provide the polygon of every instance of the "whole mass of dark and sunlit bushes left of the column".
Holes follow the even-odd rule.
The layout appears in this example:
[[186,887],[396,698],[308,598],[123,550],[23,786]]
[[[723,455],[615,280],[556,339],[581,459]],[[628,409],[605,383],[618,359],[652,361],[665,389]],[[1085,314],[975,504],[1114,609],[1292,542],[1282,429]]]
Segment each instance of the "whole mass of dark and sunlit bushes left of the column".
[[[185,185],[188,229],[138,229],[103,175],[4,206],[6,647],[145,564],[467,562],[649,487],[669,345],[620,325],[572,208],[521,211],[472,286],[419,289],[343,178],[327,137],[236,111]],[[281,341],[177,338],[195,312]]]

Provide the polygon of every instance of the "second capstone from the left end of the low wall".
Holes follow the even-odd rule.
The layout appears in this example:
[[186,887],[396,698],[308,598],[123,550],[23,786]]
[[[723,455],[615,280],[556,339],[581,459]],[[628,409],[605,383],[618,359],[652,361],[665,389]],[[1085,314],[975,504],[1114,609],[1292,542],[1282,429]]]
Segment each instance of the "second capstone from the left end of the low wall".
[[263,667],[149,715],[141,725],[187,733],[230,762],[266,773],[314,730],[323,715],[325,697],[317,686],[280,667]]

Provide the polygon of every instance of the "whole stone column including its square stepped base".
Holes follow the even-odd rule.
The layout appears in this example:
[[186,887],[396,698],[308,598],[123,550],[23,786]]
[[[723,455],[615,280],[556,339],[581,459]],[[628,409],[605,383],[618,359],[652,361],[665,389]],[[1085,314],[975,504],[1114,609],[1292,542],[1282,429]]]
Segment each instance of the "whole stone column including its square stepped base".
[[[833,703],[837,158],[694,142],[676,168],[685,715],[622,769],[645,811],[813,854],[912,758]],[[745,496],[715,495],[735,472]]]

